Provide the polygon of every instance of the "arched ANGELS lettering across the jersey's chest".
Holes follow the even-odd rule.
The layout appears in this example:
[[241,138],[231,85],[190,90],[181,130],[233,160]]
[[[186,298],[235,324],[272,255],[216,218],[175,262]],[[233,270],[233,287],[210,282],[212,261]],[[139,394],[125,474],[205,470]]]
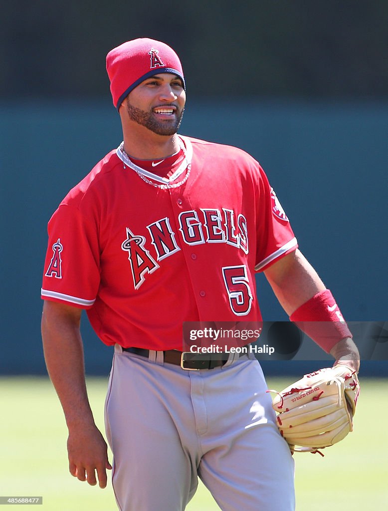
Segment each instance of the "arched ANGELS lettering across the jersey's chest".
[[[201,209],[200,214],[195,210],[183,211],[178,215],[178,225],[182,240],[187,245],[226,243],[248,254],[247,219],[242,214],[236,216],[233,210],[222,208],[221,212],[217,208],[206,208]],[[167,217],[147,225],[147,229],[156,257],[147,248],[146,237],[134,234],[129,227],[126,228],[127,238],[122,243],[122,249],[128,251],[135,289],[144,282],[146,273],[159,268],[158,261],[180,250],[176,233]]]

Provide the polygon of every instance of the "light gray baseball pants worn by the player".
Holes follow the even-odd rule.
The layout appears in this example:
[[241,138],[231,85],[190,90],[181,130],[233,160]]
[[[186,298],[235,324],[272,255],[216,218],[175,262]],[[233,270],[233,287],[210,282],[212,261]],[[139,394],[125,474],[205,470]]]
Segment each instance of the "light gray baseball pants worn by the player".
[[183,511],[198,477],[223,511],[294,511],[294,460],[260,364],[184,370],[115,346],[105,404],[120,511]]

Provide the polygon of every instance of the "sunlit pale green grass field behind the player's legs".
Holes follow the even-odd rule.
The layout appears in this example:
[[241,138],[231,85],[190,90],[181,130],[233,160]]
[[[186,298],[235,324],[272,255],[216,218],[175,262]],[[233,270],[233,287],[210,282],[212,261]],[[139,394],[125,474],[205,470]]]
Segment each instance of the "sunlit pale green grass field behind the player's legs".
[[[269,378],[268,383],[281,389],[289,381]],[[88,379],[90,403],[102,430],[106,385],[104,379]],[[361,381],[353,433],[324,450],[323,458],[294,455],[298,511],[388,508],[387,390],[388,380]],[[110,483],[101,490],[68,473],[64,417],[47,379],[0,378],[0,438],[0,496],[43,496],[38,509],[46,511],[117,509]],[[27,509],[12,506],[19,508]],[[202,484],[187,507],[187,511],[217,509]]]

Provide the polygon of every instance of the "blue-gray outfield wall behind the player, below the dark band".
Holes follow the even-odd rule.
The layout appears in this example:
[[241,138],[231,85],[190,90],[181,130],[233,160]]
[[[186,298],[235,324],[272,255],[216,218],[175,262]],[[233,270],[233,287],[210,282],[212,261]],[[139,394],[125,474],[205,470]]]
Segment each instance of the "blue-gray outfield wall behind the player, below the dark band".
[[[352,321],[387,319],[388,102],[189,99],[181,133],[258,159],[300,248]],[[110,101],[0,104],[0,374],[44,373],[40,285],[46,224],[66,192],[121,138]],[[286,319],[262,276],[264,319]],[[88,373],[111,350],[83,321]]]

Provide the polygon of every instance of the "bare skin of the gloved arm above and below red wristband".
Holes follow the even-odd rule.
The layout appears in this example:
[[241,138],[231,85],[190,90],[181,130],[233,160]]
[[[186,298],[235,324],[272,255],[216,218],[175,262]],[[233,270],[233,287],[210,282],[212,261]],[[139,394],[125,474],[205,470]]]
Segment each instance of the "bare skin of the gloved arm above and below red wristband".
[[[264,274],[288,316],[292,316],[304,304],[309,304],[315,296],[326,290],[318,273],[299,249],[285,255],[264,270]],[[317,316],[314,320],[322,319]],[[358,372],[359,353],[350,337],[338,338],[329,353],[335,359],[334,365],[346,364]]]

